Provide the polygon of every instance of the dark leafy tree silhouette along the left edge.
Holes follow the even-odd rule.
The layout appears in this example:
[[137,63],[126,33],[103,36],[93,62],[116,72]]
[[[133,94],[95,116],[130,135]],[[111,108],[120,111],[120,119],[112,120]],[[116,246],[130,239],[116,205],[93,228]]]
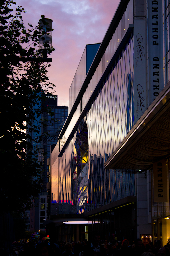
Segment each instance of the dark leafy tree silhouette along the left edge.
[[[46,32],[40,32],[39,24],[35,28],[28,24],[26,29],[25,11],[21,6],[13,11],[15,5],[13,0],[0,1],[0,202],[8,212],[29,209],[31,196],[40,192],[41,167],[32,140],[37,143],[41,138],[33,139],[29,132],[38,134],[40,125],[45,125],[46,120],[37,121],[41,107],[34,106],[54,87],[47,76],[50,64],[43,62],[43,53],[37,49],[39,37]],[[43,111],[53,115],[50,109]]]

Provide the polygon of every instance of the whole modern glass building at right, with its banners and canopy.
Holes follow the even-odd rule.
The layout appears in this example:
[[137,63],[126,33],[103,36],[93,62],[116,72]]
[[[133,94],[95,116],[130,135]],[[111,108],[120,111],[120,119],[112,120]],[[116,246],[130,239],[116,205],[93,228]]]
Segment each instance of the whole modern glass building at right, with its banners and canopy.
[[88,226],[76,224],[73,237],[74,224],[62,224],[60,240],[99,232],[109,241],[148,237],[164,245],[170,237],[168,165],[165,199],[162,187],[156,197],[161,179],[154,183],[155,163],[163,166],[170,152],[168,8],[168,1],[122,0],[88,65],[85,48],[51,154],[50,219]]

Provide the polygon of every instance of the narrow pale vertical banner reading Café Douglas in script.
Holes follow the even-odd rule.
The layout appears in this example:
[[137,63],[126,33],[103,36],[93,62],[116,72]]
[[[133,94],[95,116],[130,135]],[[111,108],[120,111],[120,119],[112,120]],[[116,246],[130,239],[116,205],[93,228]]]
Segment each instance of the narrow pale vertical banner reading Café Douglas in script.
[[134,20],[134,122],[146,110],[146,24]]

